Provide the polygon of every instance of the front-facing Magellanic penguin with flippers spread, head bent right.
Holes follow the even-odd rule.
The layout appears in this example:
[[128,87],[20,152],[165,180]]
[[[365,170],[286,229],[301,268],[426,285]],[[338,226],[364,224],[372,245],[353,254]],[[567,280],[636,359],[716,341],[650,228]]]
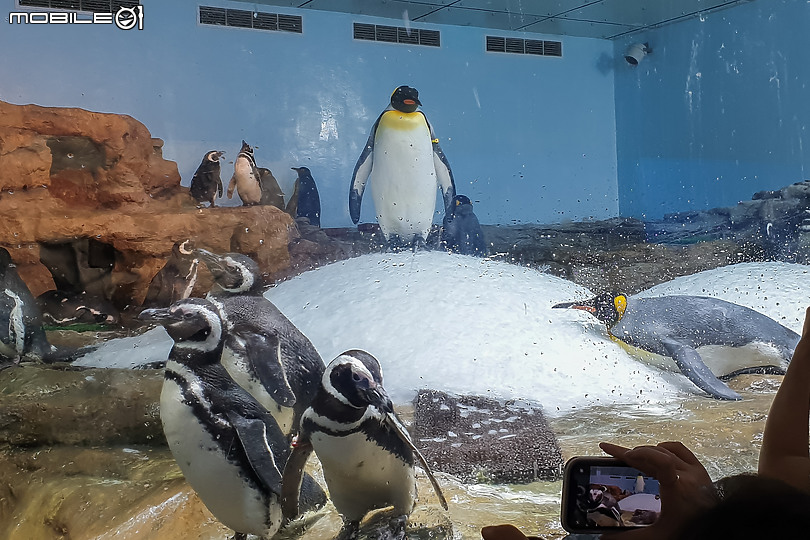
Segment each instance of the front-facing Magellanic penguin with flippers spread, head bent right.
[[402,532],[416,503],[415,458],[447,509],[430,468],[394,413],[380,363],[365,351],[346,351],[330,362],[315,400],[304,412],[284,471],[282,505],[287,517],[298,513],[301,474],[313,450],[344,520],[341,537],[351,537],[370,510],[387,506],[394,507],[395,525]]

